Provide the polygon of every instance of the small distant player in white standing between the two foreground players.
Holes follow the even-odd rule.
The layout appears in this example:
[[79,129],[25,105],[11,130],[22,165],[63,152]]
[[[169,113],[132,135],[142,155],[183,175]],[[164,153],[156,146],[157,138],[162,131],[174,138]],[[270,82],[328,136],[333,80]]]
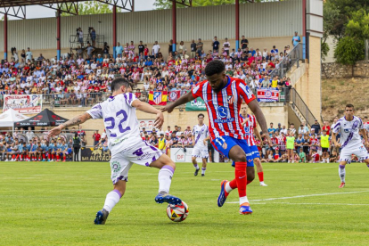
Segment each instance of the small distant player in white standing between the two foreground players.
[[208,152],[208,139],[209,139],[209,129],[208,126],[204,124],[205,116],[201,113],[197,116],[199,124],[193,127],[193,167],[196,168],[194,176],[199,173],[199,165],[197,164],[196,158],[200,157],[202,159],[201,176],[205,176],[206,171],[206,161],[209,158]]

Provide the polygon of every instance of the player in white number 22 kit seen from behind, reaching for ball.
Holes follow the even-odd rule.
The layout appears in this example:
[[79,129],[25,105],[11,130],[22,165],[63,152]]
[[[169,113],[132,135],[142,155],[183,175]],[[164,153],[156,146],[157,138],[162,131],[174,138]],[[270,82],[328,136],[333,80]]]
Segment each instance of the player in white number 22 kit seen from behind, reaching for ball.
[[169,193],[171,179],[176,165],[157,148],[143,141],[140,136],[135,110],[156,115],[154,127],[160,128],[164,121],[161,111],[146,102],[135,98],[135,94],[127,93],[129,83],[126,78],[116,78],[111,83],[112,95],[104,102],[74,119],[61,124],[50,131],[49,137],[59,135],[61,129],[84,123],[87,119],[103,119],[111,150],[111,180],[114,190],[106,196],[102,210],[98,211],[94,224],[103,225],[111,209],[126,192],[128,171],[133,162],[138,165],[159,168],[159,194],[155,197],[158,203],[168,202],[180,204],[182,201]]

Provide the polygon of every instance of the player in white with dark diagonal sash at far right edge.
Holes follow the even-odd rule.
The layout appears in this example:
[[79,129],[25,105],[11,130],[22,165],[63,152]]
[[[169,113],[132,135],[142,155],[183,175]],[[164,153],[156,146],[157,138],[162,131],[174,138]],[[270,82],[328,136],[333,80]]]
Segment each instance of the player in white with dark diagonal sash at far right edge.
[[[369,146],[363,121],[354,116],[354,105],[347,104],[345,108],[345,116],[337,121],[332,129],[332,140],[334,146],[341,148],[340,151],[340,186],[345,187],[346,181],[346,164],[351,162],[351,155],[355,154],[358,161],[364,160],[369,168],[369,153],[361,140],[359,132],[363,135],[365,145]],[[340,143],[336,141],[336,135],[340,133]]]

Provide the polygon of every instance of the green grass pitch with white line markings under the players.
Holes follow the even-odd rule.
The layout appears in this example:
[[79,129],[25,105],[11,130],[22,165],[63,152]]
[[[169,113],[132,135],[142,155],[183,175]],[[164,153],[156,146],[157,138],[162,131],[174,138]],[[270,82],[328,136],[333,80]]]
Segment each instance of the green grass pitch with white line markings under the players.
[[237,191],[217,207],[229,163],[210,163],[206,176],[177,163],[171,193],[189,205],[182,223],[156,204],[158,169],[135,165],[127,193],[106,225],[93,225],[111,191],[104,162],[0,162],[0,245],[369,245],[369,169],[338,164],[264,164],[265,181],[248,185],[254,213],[238,214]]

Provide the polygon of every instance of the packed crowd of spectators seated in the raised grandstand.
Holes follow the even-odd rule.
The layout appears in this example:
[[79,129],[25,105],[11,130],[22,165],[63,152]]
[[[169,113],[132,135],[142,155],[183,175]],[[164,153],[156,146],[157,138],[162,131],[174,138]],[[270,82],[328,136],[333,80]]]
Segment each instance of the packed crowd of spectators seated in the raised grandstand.
[[190,90],[206,79],[204,68],[214,59],[224,61],[226,74],[244,79],[254,92],[261,87],[291,87],[290,78],[272,74],[282,62],[290,62],[287,57],[290,45],[281,50],[275,46],[253,48],[242,36],[241,48],[237,51],[227,38],[220,44],[217,37],[209,51],[203,48],[201,38],[197,43],[193,40],[188,49],[183,41],[176,47],[172,52],[171,40],[168,57],[163,57],[158,42],[151,50],[142,41],[137,46],[133,41],[124,46],[118,43],[114,59],[109,45],[105,44],[103,53],[94,53],[91,46],[87,57],[71,54],[59,61],[56,57],[46,59],[42,53],[34,55],[30,48],[19,55],[16,48],[12,48],[11,60],[0,64],[0,101],[4,94],[48,94],[61,104],[85,106],[103,100],[103,94],[111,93],[111,81],[119,77],[127,78],[133,88],[143,81],[138,94],[147,100],[149,90]]

